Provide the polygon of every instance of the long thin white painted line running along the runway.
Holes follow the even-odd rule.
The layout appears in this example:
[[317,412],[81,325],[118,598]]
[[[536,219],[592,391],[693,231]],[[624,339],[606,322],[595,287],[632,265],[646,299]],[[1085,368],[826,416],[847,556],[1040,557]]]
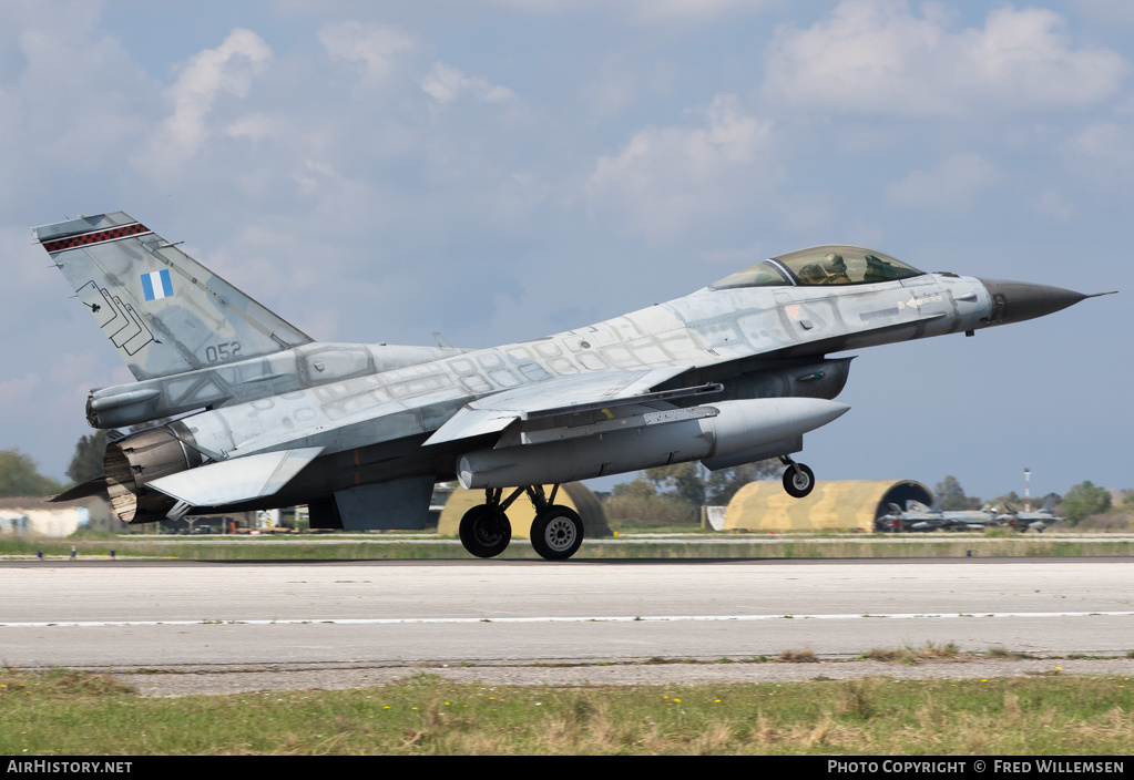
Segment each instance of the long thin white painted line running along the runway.
[[1134,612],[891,612],[863,614],[643,614],[595,617],[531,618],[291,618],[287,620],[53,620],[51,622],[0,622],[0,628],[105,628],[112,626],[382,626],[411,624],[475,622],[684,622],[684,621],[752,621],[752,620],[919,620],[948,618],[1128,618]]

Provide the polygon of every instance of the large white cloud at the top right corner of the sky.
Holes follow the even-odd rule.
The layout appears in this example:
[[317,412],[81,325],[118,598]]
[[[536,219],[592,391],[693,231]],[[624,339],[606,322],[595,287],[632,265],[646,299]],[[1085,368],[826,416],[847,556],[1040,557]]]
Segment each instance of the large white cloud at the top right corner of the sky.
[[846,0],[806,29],[782,27],[765,90],[787,103],[915,117],[1083,108],[1114,95],[1129,69],[1117,52],[1074,46],[1064,18],[992,9],[983,28],[950,32],[941,7]]

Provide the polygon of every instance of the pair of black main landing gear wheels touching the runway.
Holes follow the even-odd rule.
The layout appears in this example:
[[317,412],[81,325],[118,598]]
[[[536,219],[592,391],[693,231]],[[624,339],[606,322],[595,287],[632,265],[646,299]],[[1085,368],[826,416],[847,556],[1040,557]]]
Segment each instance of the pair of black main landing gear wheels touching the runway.
[[551,489],[551,498],[543,493],[543,485],[517,488],[500,500],[503,491],[490,488],[485,491],[484,503],[477,505],[460,518],[460,543],[477,558],[494,558],[511,541],[511,524],[505,514],[522,494],[535,507],[532,522],[532,546],[548,560],[567,560],[583,543],[583,520],[570,507],[557,505],[559,485]]

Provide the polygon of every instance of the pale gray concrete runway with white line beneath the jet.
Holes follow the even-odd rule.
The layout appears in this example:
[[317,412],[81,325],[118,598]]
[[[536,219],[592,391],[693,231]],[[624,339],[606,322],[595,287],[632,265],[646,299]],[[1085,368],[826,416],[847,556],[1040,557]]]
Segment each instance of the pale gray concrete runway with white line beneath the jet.
[[1129,559],[5,562],[19,667],[750,660],[1134,650]]

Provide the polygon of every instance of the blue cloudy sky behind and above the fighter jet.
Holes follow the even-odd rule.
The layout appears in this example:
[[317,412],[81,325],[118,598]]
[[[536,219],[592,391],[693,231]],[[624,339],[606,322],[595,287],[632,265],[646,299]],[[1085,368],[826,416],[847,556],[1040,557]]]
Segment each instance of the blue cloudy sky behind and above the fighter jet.
[[819,478],[1134,488],[1134,3],[5,3],[0,448],[129,381],[28,228],[124,210],[322,340],[481,347],[803,246],[1120,290],[863,350]]

